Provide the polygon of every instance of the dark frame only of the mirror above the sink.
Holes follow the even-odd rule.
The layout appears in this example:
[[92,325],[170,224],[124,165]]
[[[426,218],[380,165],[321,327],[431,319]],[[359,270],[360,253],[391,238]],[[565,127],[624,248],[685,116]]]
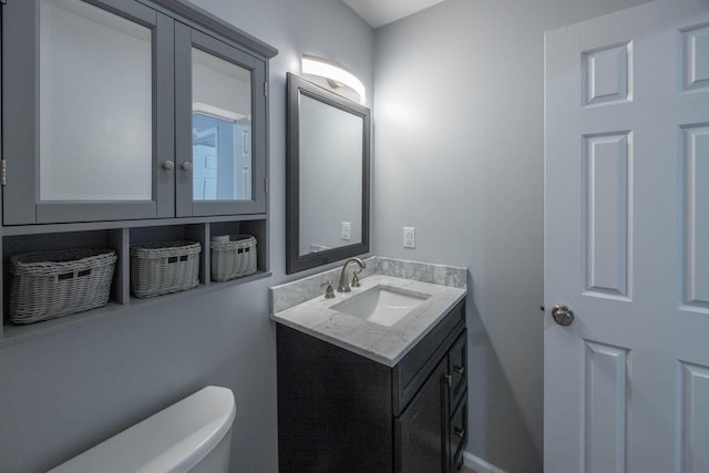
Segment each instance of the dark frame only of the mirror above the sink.
[[[299,254],[300,240],[300,141],[298,122],[300,96],[322,102],[362,117],[362,239],[307,255]],[[369,251],[369,193],[370,193],[370,111],[333,92],[297,75],[287,75],[286,104],[286,274],[302,271]]]

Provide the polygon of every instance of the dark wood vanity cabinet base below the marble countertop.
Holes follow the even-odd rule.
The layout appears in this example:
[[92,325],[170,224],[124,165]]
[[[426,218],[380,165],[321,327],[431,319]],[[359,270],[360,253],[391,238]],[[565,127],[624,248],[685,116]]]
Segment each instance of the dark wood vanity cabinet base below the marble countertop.
[[467,441],[464,301],[388,367],[277,323],[281,472],[451,472]]

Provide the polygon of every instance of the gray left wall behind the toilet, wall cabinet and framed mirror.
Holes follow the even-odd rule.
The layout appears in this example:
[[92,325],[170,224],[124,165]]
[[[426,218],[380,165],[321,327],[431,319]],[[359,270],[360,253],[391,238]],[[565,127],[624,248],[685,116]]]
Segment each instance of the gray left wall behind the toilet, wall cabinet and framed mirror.
[[371,91],[373,32],[339,1],[195,3],[280,51],[270,63],[274,276],[0,350],[3,473],[44,471],[206,384],[236,395],[232,470],[277,471],[268,287],[286,279],[286,72],[300,72],[301,53],[320,55],[353,70]]

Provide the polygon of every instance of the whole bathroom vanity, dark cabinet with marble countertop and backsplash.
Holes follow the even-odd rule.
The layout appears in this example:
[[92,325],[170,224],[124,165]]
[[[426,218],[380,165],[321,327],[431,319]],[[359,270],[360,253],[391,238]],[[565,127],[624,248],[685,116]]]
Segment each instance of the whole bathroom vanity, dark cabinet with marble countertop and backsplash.
[[[407,265],[421,264],[370,258],[352,292],[326,299],[319,289],[287,308],[282,299],[306,298],[306,288],[333,278],[322,274],[285,285],[296,287],[281,302],[282,287],[271,289],[281,471],[430,473],[462,465],[465,269]],[[454,286],[440,284],[441,275]],[[382,305],[394,312],[411,307],[388,315],[376,308]]]

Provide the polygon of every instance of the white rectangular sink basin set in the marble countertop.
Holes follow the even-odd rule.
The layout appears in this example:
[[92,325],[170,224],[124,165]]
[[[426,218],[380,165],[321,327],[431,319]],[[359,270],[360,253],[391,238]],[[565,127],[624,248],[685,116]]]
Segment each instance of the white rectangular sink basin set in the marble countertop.
[[431,296],[423,292],[379,285],[330,306],[330,309],[391,327],[429,297]]

